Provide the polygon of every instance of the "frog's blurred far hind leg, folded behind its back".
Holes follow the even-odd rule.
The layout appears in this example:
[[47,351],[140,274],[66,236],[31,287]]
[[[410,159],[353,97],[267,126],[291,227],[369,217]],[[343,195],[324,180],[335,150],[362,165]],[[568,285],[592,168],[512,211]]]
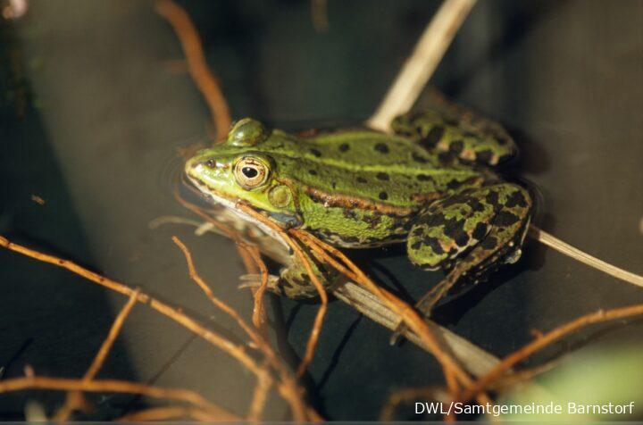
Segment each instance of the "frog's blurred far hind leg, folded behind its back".
[[472,112],[409,112],[397,116],[390,126],[396,134],[417,141],[428,151],[453,154],[468,162],[496,165],[516,152],[514,140],[500,124]]

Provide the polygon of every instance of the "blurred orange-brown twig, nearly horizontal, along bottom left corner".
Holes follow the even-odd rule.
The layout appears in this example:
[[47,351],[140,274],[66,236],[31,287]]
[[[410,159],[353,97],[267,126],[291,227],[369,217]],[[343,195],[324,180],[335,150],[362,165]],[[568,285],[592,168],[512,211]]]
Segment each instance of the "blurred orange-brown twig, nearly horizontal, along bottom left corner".
[[152,387],[138,382],[117,379],[85,380],[48,377],[25,377],[6,379],[0,382],[0,393],[25,389],[51,389],[62,391],[85,391],[91,393],[129,393],[154,398],[179,400],[205,409],[224,421],[239,421],[238,416],[214,405],[194,391],[183,388]]

